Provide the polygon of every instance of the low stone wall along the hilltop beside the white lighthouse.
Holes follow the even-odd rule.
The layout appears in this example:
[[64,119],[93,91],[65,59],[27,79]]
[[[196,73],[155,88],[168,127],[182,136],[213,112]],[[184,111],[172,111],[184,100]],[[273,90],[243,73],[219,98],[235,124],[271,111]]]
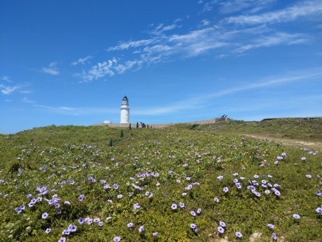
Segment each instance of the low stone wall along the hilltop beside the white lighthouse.
[[[155,129],[160,129],[160,128],[165,128],[167,126],[170,125],[177,125],[177,124],[189,124],[189,125],[194,125],[194,124],[198,124],[198,125],[207,125],[207,124],[215,124],[218,122],[222,122],[222,121],[227,121],[227,120],[231,120],[231,118],[229,117],[216,117],[216,118],[212,118],[212,119],[206,119],[206,120],[199,120],[199,121],[193,121],[193,122],[185,122],[185,123],[175,123],[175,124],[145,124],[146,127],[147,125],[149,127],[152,126],[152,128]],[[105,124],[105,123],[100,123],[100,124],[96,124],[96,125],[90,125],[90,126],[108,126],[108,127],[121,127],[121,128],[128,128],[130,124]],[[141,128],[141,124],[139,124],[139,128]],[[135,124],[131,124],[131,128],[136,128],[136,123]]]

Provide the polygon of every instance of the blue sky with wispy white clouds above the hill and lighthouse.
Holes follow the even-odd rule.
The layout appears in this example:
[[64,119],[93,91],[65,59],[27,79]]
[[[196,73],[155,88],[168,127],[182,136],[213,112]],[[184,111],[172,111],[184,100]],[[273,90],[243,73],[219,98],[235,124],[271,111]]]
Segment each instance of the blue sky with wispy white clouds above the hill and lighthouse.
[[1,1],[0,133],[322,116],[322,2]]

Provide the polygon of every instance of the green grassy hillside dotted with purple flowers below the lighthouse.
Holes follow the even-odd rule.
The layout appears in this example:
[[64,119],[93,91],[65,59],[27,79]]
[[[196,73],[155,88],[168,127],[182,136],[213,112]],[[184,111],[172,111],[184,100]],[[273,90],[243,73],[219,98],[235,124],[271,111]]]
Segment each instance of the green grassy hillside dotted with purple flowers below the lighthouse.
[[[222,236],[228,236],[230,241],[249,241],[254,232],[262,232],[261,241],[270,241],[273,232],[278,237],[284,236],[285,241],[321,241],[322,216],[315,211],[322,205],[321,197],[316,195],[322,182],[317,176],[322,175],[321,153],[312,150],[315,155],[308,154],[309,150],[244,138],[236,133],[244,129],[272,132],[293,127],[287,134],[295,134],[293,130],[297,129],[301,137],[321,134],[316,128],[320,127],[316,125],[320,120],[312,121],[315,123],[309,127],[301,124],[299,128],[285,120],[281,124],[277,122],[281,121],[124,129],[123,138],[120,129],[77,126],[48,126],[0,135],[0,179],[4,180],[0,182],[0,241],[58,241],[60,237],[69,241],[113,241],[115,236],[120,236],[121,241],[214,241],[219,238],[219,221],[226,223]],[[221,134],[223,131],[226,133]],[[108,146],[111,138],[113,147]],[[286,155],[274,164],[283,152]],[[218,157],[220,162],[217,162]],[[302,157],[306,159],[301,160]],[[188,166],[184,167],[186,163]],[[169,174],[170,170],[176,173]],[[137,176],[145,171],[159,175]],[[273,177],[268,178],[268,174]],[[217,179],[219,175],[223,176],[222,180]],[[96,181],[89,180],[90,176]],[[241,180],[241,176],[245,179]],[[238,179],[241,189],[236,188],[234,178]],[[112,188],[104,189],[100,179],[106,180]],[[279,184],[276,189],[281,195],[276,196],[270,188],[261,187],[262,179],[272,185]],[[74,184],[61,186],[61,181],[67,180],[73,180]],[[261,197],[247,189],[248,180],[258,181],[256,191]],[[160,186],[156,186],[157,183]],[[193,183],[200,185],[185,190]],[[119,188],[113,189],[113,184],[118,184]],[[143,190],[135,189],[132,184]],[[49,193],[40,196],[42,201],[28,207],[32,199],[26,197],[28,194],[39,197],[36,186],[48,186]],[[223,192],[224,187],[229,189],[227,193]],[[270,194],[264,193],[267,189]],[[153,194],[151,198],[145,196],[147,191]],[[58,202],[61,214],[45,201],[54,194],[61,199]],[[78,200],[81,194],[84,195],[82,202]],[[118,199],[120,194],[123,197]],[[219,203],[214,198],[218,198]],[[69,201],[70,205],[64,201]],[[184,208],[180,208],[180,202],[185,204]],[[135,210],[136,203],[140,208]],[[173,203],[178,205],[176,210],[171,209]],[[25,210],[17,213],[15,208],[23,204]],[[201,208],[200,215],[193,217],[190,212],[198,208]],[[49,216],[42,219],[45,212]],[[294,219],[294,213],[301,217]],[[109,216],[112,218],[105,220]],[[81,217],[100,218],[104,225],[95,222],[79,225],[77,219]],[[127,227],[129,222],[134,223],[131,228]],[[191,223],[197,225],[197,232],[190,228]],[[269,228],[268,223],[275,228]],[[62,235],[69,224],[76,225],[77,230]],[[144,230],[139,232],[141,225]],[[51,228],[48,234],[44,232],[46,228]],[[154,237],[152,232],[155,231],[158,234]],[[243,233],[243,237],[237,238],[236,231]]]

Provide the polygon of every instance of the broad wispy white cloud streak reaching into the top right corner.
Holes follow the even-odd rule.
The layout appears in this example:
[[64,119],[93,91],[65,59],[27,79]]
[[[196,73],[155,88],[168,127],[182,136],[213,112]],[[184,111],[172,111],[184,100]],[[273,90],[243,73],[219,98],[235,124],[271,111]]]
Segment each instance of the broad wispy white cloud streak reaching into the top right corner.
[[299,17],[307,15],[320,15],[322,13],[321,1],[305,1],[292,7],[274,12],[263,13],[261,15],[240,15],[224,19],[226,23],[236,24],[263,24],[276,22],[294,21]]

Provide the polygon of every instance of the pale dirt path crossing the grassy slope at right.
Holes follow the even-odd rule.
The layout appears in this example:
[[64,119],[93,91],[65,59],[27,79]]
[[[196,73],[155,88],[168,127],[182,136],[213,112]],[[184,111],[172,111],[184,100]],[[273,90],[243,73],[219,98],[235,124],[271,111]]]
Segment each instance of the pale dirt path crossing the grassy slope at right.
[[286,146],[295,146],[295,147],[299,147],[299,148],[309,148],[309,149],[317,149],[318,151],[322,150],[322,143],[320,142],[308,142],[308,141],[301,141],[301,140],[293,140],[293,139],[279,139],[276,137],[270,137],[269,135],[266,136],[259,136],[257,135],[246,135],[248,137],[252,137],[252,138],[257,138],[257,139],[263,139],[266,138],[268,140],[273,140],[277,143],[282,143],[283,145]]

